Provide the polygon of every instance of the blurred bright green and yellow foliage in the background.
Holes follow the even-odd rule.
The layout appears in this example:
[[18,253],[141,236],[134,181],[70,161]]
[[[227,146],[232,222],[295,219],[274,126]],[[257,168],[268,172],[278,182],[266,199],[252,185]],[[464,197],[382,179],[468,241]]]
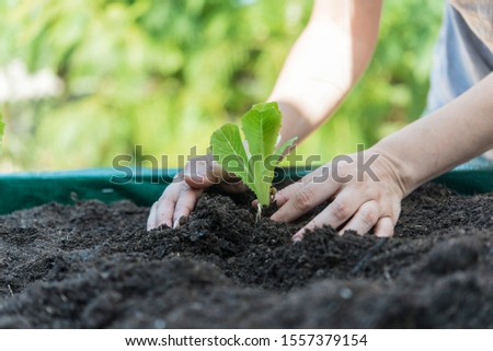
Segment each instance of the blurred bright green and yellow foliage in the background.
[[[107,167],[135,145],[168,155],[162,167],[193,145],[205,152],[216,128],[268,96],[311,5],[0,1],[0,171]],[[329,160],[420,116],[442,10],[442,1],[385,1],[369,70],[299,153]]]

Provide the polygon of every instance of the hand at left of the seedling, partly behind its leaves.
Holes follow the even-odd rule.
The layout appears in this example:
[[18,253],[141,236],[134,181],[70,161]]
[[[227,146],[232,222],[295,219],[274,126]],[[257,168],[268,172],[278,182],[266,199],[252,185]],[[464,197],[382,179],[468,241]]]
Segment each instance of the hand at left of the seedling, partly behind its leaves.
[[182,217],[188,217],[205,189],[219,184],[227,192],[242,192],[246,188],[234,175],[222,169],[213,155],[198,156],[187,162],[173,182],[152,204],[147,220],[151,231],[165,224],[177,227]]

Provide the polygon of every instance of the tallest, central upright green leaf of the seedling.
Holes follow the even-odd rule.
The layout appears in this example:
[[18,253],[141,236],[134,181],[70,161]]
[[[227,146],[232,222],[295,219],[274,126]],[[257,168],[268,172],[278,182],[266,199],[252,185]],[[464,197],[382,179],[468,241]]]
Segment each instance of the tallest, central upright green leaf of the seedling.
[[249,165],[253,168],[255,194],[263,206],[271,203],[270,190],[274,178],[274,165],[267,157],[274,153],[280,120],[282,116],[276,103],[254,105],[241,118],[241,128],[251,154]]

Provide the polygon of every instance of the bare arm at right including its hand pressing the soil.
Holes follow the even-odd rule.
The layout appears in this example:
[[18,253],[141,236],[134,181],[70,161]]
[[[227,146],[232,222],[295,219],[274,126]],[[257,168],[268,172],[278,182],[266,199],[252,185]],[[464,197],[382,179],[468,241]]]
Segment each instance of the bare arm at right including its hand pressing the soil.
[[[399,219],[401,200],[423,183],[493,148],[493,73],[467,93],[432,115],[421,118],[382,139],[352,162],[336,165],[348,182],[337,182],[333,174],[322,178],[329,163],[276,195],[280,209],[276,221],[293,221],[334,197],[333,201],[308,223],[306,230],[324,224],[365,234],[371,229],[378,236],[391,236]],[[374,160],[375,175],[360,177],[356,160]],[[359,165],[360,166],[360,165]]]

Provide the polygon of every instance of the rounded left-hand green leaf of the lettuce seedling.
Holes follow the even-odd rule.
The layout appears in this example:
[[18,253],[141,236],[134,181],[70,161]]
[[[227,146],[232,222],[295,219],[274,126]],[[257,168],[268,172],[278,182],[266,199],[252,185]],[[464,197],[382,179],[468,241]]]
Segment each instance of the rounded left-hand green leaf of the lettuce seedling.
[[213,155],[222,168],[234,173],[256,194],[253,172],[249,167],[249,159],[241,142],[240,129],[237,125],[226,124],[210,137]]

